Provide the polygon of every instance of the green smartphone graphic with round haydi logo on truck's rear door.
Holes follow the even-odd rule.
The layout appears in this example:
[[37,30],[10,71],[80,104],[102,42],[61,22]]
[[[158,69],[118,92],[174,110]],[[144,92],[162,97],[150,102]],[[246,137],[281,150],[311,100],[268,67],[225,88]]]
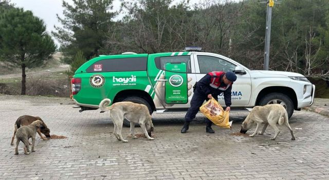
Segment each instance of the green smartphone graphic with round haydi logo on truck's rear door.
[[166,63],[165,65],[165,100],[167,104],[186,104],[187,94],[187,74],[186,63]]

